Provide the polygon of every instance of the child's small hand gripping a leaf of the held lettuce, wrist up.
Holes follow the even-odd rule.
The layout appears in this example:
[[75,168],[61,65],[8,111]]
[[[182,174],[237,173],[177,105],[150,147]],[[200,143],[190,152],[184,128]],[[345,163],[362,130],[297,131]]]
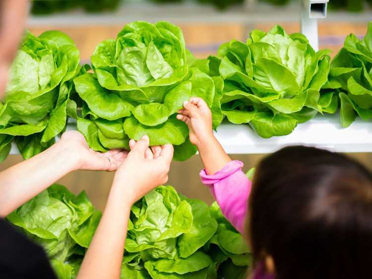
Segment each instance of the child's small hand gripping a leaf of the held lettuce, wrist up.
[[177,119],[187,124],[190,142],[199,148],[213,137],[212,113],[205,101],[197,97],[185,102],[184,108],[178,112]]

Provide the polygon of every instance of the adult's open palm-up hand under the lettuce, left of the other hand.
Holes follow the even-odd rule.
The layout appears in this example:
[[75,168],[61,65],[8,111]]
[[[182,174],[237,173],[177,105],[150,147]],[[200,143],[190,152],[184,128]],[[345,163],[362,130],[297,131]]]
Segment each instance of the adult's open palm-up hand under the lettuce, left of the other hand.
[[84,136],[78,131],[67,131],[57,143],[69,154],[74,169],[114,171],[123,163],[128,152],[110,150],[106,153],[96,152],[89,148]]

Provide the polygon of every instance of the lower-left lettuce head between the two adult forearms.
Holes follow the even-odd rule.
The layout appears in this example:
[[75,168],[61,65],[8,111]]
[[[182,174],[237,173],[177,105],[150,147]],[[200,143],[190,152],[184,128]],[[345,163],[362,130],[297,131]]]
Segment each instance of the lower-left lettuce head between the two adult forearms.
[[85,192],[75,196],[58,184],[6,217],[44,248],[59,279],[76,277],[100,218]]

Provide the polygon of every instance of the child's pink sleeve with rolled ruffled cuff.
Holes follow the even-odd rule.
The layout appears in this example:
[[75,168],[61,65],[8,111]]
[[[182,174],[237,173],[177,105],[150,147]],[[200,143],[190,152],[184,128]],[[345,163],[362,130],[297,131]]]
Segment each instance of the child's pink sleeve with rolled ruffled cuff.
[[223,215],[240,232],[244,230],[251,188],[242,167],[242,162],[231,161],[213,175],[200,171],[201,182],[210,187]]

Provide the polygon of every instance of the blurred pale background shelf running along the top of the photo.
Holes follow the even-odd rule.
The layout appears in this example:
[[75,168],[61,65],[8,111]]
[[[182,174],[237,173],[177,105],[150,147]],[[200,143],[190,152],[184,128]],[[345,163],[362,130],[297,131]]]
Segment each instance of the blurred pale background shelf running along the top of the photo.
[[[194,1],[183,3],[157,4],[143,0],[124,1],[114,12],[98,14],[72,10],[51,15],[31,15],[27,26],[87,26],[120,25],[135,20],[157,22],[166,20],[175,24],[193,22],[240,22],[273,24],[279,22],[299,21],[301,15],[300,1],[292,1],[286,6],[275,6],[258,2],[253,5],[234,5],[220,11],[212,5],[201,5]],[[372,10],[367,8],[361,13],[328,12],[325,21],[368,22],[372,19]]]

